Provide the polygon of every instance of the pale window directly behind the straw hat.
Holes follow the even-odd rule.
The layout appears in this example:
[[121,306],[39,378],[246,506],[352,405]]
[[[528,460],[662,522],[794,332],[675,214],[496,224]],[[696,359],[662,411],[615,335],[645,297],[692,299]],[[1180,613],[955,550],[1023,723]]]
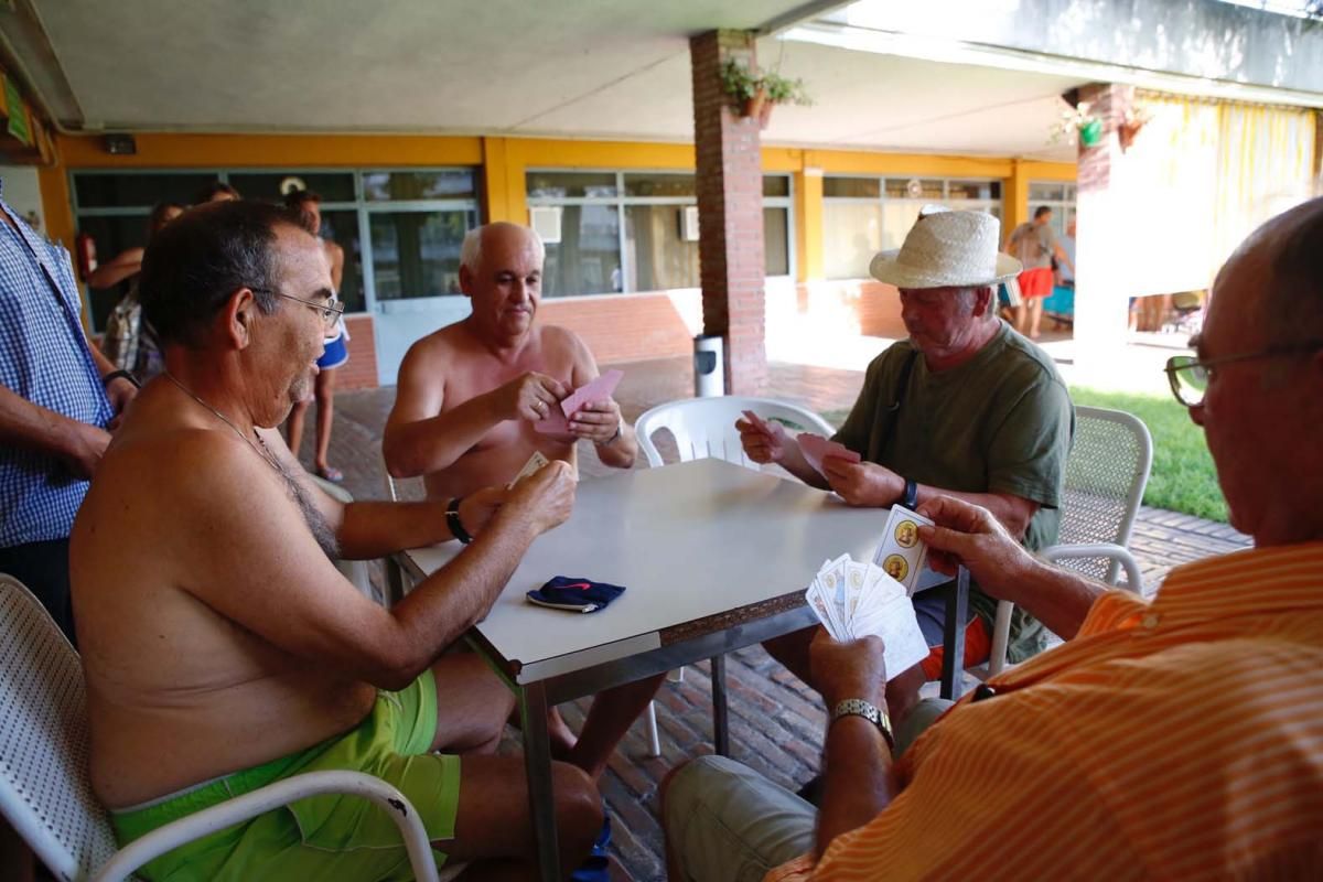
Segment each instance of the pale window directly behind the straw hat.
[[823,179],[823,271],[857,279],[878,251],[898,249],[927,204],[1002,217],[1002,181],[847,177]]

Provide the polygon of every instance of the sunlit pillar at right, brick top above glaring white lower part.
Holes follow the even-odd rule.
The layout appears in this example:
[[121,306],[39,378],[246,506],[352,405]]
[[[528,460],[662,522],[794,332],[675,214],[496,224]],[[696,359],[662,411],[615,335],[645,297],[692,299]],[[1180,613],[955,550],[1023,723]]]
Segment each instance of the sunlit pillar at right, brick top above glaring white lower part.
[[1143,210],[1143,201],[1126,193],[1125,153],[1117,138],[1134,89],[1090,83],[1080,89],[1080,100],[1089,102],[1103,130],[1101,144],[1080,147],[1076,200],[1076,365],[1082,385],[1097,385],[1126,345],[1129,296],[1142,290],[1129,278],[1126,243],[1132,238],[1129,218]]

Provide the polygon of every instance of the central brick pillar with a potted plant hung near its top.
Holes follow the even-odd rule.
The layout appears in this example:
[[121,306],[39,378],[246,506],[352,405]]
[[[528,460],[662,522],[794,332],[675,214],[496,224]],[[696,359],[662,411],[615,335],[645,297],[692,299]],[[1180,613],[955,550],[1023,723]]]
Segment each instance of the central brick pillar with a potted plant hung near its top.
[[725,337],[726,394],[757,395],[767,378],[762,152],[758,120],[741,118],[721,89],[728,58],[755,65],[753,34],[709,30],[689,40],[703,329]]

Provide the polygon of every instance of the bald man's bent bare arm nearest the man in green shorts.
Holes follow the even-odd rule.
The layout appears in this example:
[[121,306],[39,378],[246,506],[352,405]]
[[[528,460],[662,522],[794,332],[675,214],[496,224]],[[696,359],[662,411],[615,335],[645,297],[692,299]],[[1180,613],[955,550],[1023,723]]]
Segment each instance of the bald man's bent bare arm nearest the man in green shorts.
[[431,337],[425,337],[400,365],[396,405],[381,442],[392,477],[417,477],[448,468],[497,423],[538,421],[565,397],[564,385],[554,377],[529,372],[441,413],[445,380],[435,345]]

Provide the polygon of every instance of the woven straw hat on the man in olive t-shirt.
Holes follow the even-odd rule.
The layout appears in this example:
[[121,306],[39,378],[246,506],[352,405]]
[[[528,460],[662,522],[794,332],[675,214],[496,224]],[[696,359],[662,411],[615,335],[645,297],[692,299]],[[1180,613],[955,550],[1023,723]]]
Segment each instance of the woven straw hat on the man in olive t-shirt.
[[1019,275],[1020,262],[998,251],[1002,222],[987,212],[925,206],[898,251],[881,251],[868,271],[897,288],[963,288]]

